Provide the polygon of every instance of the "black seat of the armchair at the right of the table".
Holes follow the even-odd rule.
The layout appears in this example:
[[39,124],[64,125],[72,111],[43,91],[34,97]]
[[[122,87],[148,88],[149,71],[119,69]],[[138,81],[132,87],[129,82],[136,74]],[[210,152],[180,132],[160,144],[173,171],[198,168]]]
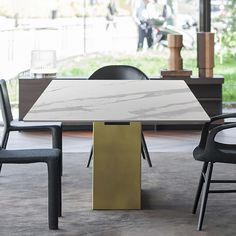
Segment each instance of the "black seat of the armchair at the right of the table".
[[236,163],[236,146],[230,144],[217,143],[217,148],[211,152],[206,152],[204,148],[196,147],[193,151],[195,160],[203,162]]

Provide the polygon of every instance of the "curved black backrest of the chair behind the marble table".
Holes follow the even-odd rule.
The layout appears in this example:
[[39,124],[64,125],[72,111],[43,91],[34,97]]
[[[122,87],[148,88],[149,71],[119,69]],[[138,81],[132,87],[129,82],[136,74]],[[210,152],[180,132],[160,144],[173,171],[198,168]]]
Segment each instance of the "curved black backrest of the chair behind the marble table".
[[88,79],[149,80],[141,70],[128,65],[109,65],[96,70]]

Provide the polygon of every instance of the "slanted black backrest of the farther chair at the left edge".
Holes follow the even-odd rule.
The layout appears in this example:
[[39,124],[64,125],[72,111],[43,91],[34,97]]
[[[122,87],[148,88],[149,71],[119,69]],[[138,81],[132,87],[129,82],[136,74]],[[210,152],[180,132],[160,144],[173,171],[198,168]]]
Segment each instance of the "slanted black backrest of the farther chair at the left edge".
[[4,126],[9,127],[11,121],[13,120],[13,116],[11,112],[11,104],[7,91],[6,81],[3,79],[0,80],[0,106]]

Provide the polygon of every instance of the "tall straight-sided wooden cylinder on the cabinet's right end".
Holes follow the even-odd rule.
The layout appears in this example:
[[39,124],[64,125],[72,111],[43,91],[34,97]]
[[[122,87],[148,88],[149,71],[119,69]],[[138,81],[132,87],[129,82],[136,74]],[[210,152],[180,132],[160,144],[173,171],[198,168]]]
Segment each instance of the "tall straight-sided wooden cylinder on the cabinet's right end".
[[214,33],[197,33],[197,67],[199,71],[199,77],[213,77]]

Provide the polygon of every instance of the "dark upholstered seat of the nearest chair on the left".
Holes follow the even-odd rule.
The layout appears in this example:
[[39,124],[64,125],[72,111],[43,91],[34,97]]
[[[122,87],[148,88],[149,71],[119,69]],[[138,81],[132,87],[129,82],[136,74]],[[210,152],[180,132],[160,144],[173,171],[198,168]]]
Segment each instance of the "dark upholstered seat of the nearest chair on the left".
[[48,162],[52,158],[58,158],[59,149],[24,149],[24,150],[0,150],[0,163],[36,163]]

